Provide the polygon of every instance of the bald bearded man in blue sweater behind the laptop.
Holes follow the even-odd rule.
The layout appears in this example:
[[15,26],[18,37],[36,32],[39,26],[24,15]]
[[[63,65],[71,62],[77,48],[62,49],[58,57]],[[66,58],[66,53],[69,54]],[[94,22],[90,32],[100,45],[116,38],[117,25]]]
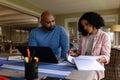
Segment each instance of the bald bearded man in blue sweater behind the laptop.
[[42,26],[30,33],[29,46],[50,47],[58,59],[65,59],[69,38],[64,27],[56,26],[54,15],[48,11],[42,13],[40,23]]

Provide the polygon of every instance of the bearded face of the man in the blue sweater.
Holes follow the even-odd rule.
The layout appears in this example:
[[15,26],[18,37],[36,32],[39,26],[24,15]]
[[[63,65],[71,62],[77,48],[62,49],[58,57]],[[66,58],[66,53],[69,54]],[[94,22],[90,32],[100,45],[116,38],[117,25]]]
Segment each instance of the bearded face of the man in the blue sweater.
[[51,31],[55,27],[55,19],[53,15],[46,15],[42,20],[41,24],[45,30]]

